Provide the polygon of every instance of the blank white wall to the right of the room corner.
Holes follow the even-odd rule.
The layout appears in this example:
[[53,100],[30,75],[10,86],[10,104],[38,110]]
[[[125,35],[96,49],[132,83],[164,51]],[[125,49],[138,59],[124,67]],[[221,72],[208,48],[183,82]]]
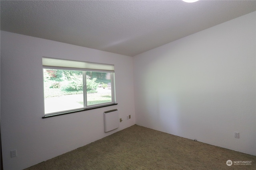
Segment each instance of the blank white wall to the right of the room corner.
[[133,62],[136,124],[256,155],[256,12]]

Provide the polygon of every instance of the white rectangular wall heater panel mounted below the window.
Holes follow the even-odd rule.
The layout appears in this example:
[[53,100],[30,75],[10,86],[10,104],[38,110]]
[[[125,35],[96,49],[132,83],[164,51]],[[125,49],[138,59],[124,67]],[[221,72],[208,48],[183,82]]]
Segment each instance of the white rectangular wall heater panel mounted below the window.
[[104,132],[112,131],[119,127],[118,110],[104,112]]

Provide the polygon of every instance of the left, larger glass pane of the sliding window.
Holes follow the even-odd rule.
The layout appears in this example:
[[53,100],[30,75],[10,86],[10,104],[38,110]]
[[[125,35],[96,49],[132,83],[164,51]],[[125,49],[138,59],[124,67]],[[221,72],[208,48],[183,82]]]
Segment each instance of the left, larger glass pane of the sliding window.
[[84,107],[82,71],[44,68],[43,72],[45,114]]

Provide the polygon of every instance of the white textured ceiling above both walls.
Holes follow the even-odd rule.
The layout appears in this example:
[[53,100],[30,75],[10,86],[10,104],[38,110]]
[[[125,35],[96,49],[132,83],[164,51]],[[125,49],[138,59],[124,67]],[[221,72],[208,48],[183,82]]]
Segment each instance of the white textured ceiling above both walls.
[[256,11],[256,1],[0,1],[1,30],[135,56]]

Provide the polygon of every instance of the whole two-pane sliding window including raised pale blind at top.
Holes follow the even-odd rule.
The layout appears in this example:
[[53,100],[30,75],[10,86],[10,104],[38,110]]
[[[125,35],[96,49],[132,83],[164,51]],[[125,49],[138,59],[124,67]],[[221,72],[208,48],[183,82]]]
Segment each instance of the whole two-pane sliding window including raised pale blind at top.
[[115,104],[114,65],[44,57],[44,114]]

